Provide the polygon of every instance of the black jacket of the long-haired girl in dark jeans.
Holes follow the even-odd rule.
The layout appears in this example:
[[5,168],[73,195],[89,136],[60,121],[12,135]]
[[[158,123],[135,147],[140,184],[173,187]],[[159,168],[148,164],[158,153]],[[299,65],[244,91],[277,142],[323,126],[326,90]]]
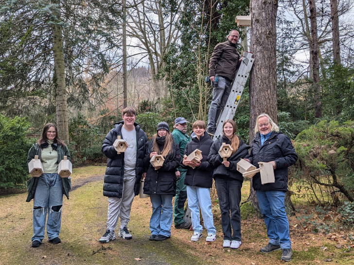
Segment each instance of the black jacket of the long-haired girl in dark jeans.
[[208,156],[208,161],[215,168],[213,173],[214,178],[221,178],[226,180],[234,179],[243,182],[244,178],[242,174],[237,171],[237,163],[240,161],[241,158],[249,157],[248,149],[250,149],[250,146],[246,145],[245,142],[240,139],[240,137],[239,140],[240,143],[238,145],[237,151],[227,159],[227,161],[230,162],[229,167],[226,167],[221,164],[224,160],[218,153],[222,143],[230,144],[229,138],[223,135],[212,144],[212,148],[210,149],[210,153]]

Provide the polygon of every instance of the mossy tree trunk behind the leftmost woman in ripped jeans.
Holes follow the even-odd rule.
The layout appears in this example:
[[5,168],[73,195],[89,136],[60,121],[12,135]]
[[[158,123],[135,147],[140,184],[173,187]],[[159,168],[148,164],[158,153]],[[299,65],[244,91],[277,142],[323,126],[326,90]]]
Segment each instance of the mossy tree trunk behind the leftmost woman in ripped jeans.
[[[53,1],[59,4],[59,1]],[[60,21],[60,14],[54,12],[57,22]],[[65,86],[65,66],[64,66],[64,43],[62,28],[58,23],[52,24],[53,32],[53,57],[54,57],[54,85],[55,85],[55,115],[58,136],[66,144],[69,144],[69,123],[68,105]]]

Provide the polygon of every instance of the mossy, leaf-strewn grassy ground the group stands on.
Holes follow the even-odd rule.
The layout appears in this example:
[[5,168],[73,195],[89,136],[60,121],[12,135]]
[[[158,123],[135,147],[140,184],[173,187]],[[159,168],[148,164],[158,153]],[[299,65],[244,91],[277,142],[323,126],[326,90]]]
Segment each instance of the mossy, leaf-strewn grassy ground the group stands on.
[[[117,238],[100,244],[106,231],[107,198],[103,197],[105,166],[75,168],[70,199],[64,198],[62,243],[43,240],[31,248],[33,201],[27,193],[0,196],[0,264],[281,264],[281,251],[259,252],[267,244],[262,219],[242,221],[242,245],[239,249],[222,248],[220,212],[213,206],[217,239],[206,243],[206,232],[198,242],[191,242],[192,231],[172,228],[171,239],[149,241],[150,199],[135,197],[128,224],[132,240]],[[93,180],[93,181],[92,181]],[[242,201],[248,197],[249,182],[244,182]],[[217,200],[216,200],[217,201]],[[299,205],[298,205],[299,206]],[[301,215],[299,209],[297,215]],[[311,233],[296,216],[289,218],[293,247],[291,264],[354,264],[353,248],[347,249],[350,231],[331,234]],[[116,233],[118,234],[118,232]],[[352,230],[352,234],[353,230]],[[346,238],[344,238],[346,236]],[[340,247],[340,248],[339,248]]]

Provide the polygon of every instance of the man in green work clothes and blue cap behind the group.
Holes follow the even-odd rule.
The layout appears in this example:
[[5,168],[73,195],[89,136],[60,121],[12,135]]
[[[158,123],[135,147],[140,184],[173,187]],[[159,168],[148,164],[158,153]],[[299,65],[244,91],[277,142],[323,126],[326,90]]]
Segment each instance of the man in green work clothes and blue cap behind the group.
[[[177,145],[179,146],[179,150],[181,152],[181,159],[183,159],[184,149],[189,141],[191,141],[191,137],[189,137],[187,132],[187,122],[184,117],[178,117],[175,119],[175,129],[172,132],[173,137]],[[184,221],[184,204],[187,199],[187,186],[184,184],[184,178],[186,177],[187,169],[182,167],[178,167],[176,171],[177,177],[177,187],[176,187],[176,197],[175,203],[173,207],[173,221],[175,224],[175,228],[177,229],[189,229],[191,227],[191,223],[187,223]]]

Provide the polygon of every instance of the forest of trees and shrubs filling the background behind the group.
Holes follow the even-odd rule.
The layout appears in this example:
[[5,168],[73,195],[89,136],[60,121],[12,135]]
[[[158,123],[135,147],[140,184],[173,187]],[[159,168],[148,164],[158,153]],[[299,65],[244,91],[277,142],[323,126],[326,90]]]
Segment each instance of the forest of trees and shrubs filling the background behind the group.
[[[311,195],[321,203],[354,198],[353,5],[279,0],[275,14],[278,123],[299,153],[292,178],[323,188]],[[212,50],[232,29],[248,50],[251,29],[235,17],[249,10],[249,0],[0,0],[0,188],[27,179],[47,122],[81,165],[105,161],[103,138],[126,105],[148,136],[161,120],[207,121]],[[247,86],[235,114],[245,141],[249,99]]]

